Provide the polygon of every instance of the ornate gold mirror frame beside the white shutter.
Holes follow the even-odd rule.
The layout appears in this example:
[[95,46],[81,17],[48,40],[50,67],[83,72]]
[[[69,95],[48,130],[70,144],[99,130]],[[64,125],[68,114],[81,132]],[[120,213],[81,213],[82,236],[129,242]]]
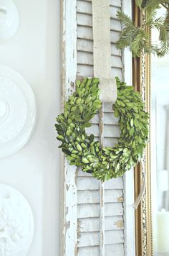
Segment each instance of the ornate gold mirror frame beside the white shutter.
[[[143,19],[135,1],[132,1],[132,13],[135,24],[139,25]],[[146,110],[150,114],[150,55],[132,58],[132,84],[135,90],[142,93]],[[149,134],[150,140],[150,134]],[[150,143],[145,149],[142,163],[135,167],[135,198],[140,193],[146,178],[146,188],[140,205],[135,210],[135,251],[136,256],[153,256],[153,226],[151,209],[151,169],[150,169]]]

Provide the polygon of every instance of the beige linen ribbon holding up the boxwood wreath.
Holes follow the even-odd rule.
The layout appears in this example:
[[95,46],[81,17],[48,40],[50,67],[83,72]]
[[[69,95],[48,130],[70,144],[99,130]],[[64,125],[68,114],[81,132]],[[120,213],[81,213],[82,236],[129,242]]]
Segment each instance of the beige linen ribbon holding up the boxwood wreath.
[[100,100],[115,104],[117,87],[112,78],[110,1],[92,1],[94,76],[100,78]]

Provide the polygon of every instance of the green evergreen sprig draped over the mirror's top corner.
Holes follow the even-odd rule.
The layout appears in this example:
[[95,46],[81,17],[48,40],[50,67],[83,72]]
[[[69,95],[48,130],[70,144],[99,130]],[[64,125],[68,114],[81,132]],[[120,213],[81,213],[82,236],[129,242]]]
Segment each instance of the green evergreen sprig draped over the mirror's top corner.
[[[130,17],[122,11],[118,11],[117,18],[122,22],[124,29],[122,29],[120,39],[117,41],[117,48],[123,49],[129,46],[133,57],[140,57],[143,50],[156,54],[158,57],[163,57],[169,52],[167,42],[169,0],[135,0],[135,3],[140,8],[140,12],[145,12],[145,20],[142,21],[140,27],[137,27]],[[166,17],[156,19],[155,16],[158,8],[160,8],[160,4],[163,4],[167,9]],[[149,33],[146,32],[145,27],[158,29],[160,33],[160,46],[150,43]]]

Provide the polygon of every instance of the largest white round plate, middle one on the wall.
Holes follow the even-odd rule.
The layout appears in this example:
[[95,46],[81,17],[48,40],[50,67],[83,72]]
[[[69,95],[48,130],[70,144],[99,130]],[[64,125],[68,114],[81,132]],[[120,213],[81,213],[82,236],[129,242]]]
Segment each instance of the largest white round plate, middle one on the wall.
[[36,116],[29,84],[16,71],[0,65],[0,157],[24,147],[34,131]]

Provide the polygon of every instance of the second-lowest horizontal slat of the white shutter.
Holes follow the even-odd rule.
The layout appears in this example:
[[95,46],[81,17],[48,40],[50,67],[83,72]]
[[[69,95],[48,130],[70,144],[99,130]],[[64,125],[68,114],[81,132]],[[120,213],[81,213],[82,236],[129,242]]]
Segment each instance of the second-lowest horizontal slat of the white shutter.
[[[124,242],[122,230],[105,231],[105,244],[120,244]],[[78,237],[78,247],[96,246],[100,244],[100,233],[81,233]]]

